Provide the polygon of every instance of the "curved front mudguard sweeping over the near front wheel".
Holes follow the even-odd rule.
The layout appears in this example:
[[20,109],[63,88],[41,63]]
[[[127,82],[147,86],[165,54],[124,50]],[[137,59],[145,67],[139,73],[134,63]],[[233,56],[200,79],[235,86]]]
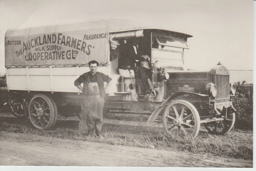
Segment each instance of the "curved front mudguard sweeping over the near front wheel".
[[182,96],[182,95],[195,95],[198,97],[207,97],[208,95],[205,94],[198,94],[198,93],[192,93],[192,92],[177,92],[172,94],[170,97],[168,97],[159,107],[157,107],[154,112],[150,115],[147,123],[152,123],[156,120],[157,116],[160,114],[160,112],[167,106],[169,102],[171,102],[176,97]]

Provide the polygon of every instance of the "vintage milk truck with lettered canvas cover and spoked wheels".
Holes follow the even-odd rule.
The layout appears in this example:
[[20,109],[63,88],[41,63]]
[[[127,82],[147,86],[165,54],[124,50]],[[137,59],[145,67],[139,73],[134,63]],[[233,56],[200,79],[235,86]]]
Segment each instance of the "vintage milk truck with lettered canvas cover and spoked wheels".
[[[184,70],[190,37],[121,19],[8,30],[9,106],[16,117],[29,116],[36,128],[52,128],[58,113],[81,110],[84,95],[74,80],[89,71],[90,60],[97,60],[97,71],[113,80],[105,109],[149,110],[148,123],[161,113],[166,132],[172,134],[194,138],[200,124],[210,133],[225,134],[235,122],[231,100],[235,85],[229,83],[229,70],[221,64],[208,71]],[[147,50],[150,94],[140,93],[138,70],[119,66],[124,40],[137,41]]]

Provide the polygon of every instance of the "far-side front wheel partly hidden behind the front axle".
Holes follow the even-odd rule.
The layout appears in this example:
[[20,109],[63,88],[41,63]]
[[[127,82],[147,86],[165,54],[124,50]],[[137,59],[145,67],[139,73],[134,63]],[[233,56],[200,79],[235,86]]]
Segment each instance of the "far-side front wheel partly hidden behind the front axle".
[[223,121],[204,123],[204,127],[213,134],[224,135],[229,132],[235,124],[235,113],[229,113]]

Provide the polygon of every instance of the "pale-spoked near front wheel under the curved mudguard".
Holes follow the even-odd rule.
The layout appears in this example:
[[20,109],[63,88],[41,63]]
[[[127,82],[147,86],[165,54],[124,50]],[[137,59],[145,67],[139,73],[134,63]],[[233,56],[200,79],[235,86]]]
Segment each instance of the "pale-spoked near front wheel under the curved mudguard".
[[196,108],[188,101],[171,102],[164,111],[164,128],[168,134],[195,138],[200,128],[200,117]]

